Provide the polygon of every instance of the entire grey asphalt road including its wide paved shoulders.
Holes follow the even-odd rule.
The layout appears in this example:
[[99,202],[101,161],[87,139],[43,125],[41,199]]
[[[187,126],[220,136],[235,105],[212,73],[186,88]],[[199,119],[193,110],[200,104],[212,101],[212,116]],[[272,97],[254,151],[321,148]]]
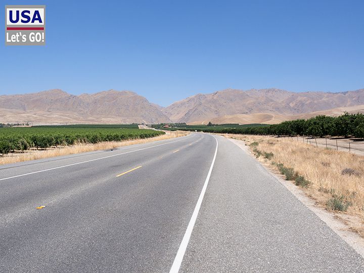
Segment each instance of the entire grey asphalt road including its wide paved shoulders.
[[221,136],[5,165],[0,187],[1,272],[364,271]]

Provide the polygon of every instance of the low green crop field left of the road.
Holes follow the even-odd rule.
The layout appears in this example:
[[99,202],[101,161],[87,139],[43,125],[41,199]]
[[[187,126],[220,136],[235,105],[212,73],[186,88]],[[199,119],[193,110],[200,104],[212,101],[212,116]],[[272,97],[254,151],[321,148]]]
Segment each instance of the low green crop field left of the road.
[[125,141],[152,138],[164,134],[149,129],[128,129],[93,125],[92,127],[16,127],[0,128],[0,153],[25,151],[32,148],[74,145],[77,143],[95,144],[106,141]]

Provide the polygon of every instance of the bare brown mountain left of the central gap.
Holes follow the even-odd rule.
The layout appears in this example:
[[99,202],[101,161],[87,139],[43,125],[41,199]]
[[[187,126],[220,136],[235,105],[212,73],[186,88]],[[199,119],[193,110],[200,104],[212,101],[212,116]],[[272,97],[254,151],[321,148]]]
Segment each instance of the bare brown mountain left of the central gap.
[[155,105],[129,91],[70,95],[60,89],[0,96],[0,122],[160,123],[170,122]]

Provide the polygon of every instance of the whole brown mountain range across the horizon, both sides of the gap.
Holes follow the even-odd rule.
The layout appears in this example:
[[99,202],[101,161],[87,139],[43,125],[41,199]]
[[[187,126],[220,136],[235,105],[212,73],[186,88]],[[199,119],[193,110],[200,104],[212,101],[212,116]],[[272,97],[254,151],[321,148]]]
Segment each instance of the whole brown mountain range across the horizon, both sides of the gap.
[[364,89],[295,93],[282,89],[225,89],[163,108],[129,91],[70,95],[60,89],[0,96],[0,122],[54,123],[278,123],[318,114],[364,112]]

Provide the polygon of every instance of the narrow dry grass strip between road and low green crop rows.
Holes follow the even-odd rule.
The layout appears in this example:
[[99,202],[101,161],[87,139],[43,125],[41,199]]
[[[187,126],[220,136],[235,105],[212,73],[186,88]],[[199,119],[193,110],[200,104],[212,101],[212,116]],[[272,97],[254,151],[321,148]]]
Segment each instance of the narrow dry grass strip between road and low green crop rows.
[[155,138],[150,139],[138,139],[138,140],[129,140],[123,142],[102,142],[97,144],[79,144],[73,146],[66,146],[60,148],[51,148],[48,150],[40,150],[40,151],[26,151],[25,153],[14,153],[8,154],[4,157],[0,157],[0,165],[2,164],[10,164],[34,159],[55,157],[55,156],[63,156],[63,155],[71,155],[71,154],[79,154],[84,152],[91,151],[99,151],[99,150],[107,150],[114,149],[117,147],[128,146],[133,144],[141,144],[141,143],[149,143],[153,141],[167,140],[171,138],[177,138],[178,136],[184,136],[190,134],[188,131],[165,131],[165,134],[156,136]]

